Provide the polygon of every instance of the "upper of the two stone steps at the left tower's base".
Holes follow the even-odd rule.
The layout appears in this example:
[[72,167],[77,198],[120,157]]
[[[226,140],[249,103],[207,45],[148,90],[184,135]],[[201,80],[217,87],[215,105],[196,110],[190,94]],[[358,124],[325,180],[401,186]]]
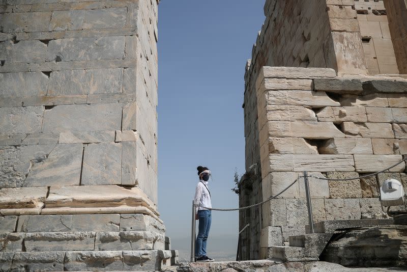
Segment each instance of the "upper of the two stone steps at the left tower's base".
[[165,236],[153,231],[0,233],[1,251],[164,250]]

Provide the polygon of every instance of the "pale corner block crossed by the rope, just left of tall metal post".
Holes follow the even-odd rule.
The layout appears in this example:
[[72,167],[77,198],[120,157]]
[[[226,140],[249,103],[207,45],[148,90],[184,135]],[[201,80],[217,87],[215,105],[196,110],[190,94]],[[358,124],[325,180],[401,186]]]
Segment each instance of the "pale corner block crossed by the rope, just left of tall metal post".
[[[270,197],[280,193],[289,184],[291,184],[298,174],[295,172],[272,172],[267,177],[263,178],[262,186],[263,199],[269,199]],[[299,182],[296,182],[283,194],[279,196],[282,198],[298,198],[300,196]]]

